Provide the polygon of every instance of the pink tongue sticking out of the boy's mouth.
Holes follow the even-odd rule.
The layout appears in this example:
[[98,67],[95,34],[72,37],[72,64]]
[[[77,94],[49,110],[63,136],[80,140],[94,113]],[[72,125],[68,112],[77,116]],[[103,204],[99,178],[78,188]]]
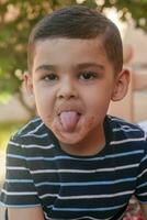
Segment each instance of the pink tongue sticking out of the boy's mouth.
[[66,131],[72,131],[79,121],[79,114],[76,111],[64,111],[60,113],[60,121]]

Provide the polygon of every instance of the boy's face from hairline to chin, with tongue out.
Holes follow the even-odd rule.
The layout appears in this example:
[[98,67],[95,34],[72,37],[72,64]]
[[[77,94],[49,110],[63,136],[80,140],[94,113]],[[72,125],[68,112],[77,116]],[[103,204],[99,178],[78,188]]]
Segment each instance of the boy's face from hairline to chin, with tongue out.
[[116,90],[116,77],[99,38],[38,41],[26,82],[39,117],[60,143],[103,139],[103,120]]

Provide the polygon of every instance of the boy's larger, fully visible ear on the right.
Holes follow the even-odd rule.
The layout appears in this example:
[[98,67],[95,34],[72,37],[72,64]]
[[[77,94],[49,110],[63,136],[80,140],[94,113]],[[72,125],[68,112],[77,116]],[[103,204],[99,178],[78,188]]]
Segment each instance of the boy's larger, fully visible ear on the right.
[[112,101],[120,101],[126,96],[129,80],[131,80],[131,75],[128,69],[123,69],[115,77],[115,85],[111,97]]

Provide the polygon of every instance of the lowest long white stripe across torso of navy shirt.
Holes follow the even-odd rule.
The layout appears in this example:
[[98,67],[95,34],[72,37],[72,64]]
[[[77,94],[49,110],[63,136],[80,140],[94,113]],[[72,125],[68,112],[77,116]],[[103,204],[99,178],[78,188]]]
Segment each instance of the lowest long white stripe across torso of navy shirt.
[[112,198],[112,197],[120,197],[124,195],[132,195],[134,190],[127,190],[127,191],[121,191],[116,194],[105,194],[105,195],[81,195],[81,196],[59,196],[57,194],[44,194],[39,196],[39,198],[46,198],[46,197],[57,197],[60,200],[66,199],[99,199],[99,198]]

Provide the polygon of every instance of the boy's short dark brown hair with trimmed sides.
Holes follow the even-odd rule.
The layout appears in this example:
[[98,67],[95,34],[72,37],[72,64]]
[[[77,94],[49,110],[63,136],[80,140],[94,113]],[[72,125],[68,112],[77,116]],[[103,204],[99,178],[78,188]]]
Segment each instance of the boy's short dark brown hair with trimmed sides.
[[123,46],[117,26],[97,10],[84,6],[72,6],[47,14],[32,30],[29,40],[27,64],[31,72],[33,52],[37,41],[44,38],[94,38],[101,36],[108,58],[115,73],[123,67]]

